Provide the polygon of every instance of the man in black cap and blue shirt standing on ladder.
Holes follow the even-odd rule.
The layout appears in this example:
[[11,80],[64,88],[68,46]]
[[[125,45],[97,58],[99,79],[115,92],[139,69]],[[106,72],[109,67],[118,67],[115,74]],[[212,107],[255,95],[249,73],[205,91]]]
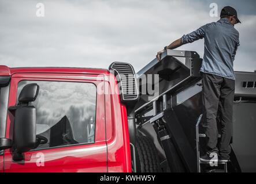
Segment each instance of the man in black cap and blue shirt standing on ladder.
[[[232,136],[232,104],[235,92],[233,61],[239,46],[239,33],[234,25],[240,21],[236,10],[231,6],[225,6],[221,10],[220,17],[221,19],[217,22],[203,25],[194,32],[184,34],[183,37],[157,53],[159,61],[166,49],[175,49],[183,44],[205,39],[205,51],[200,70],[203,114],[206,120],[204,126],[207,136],[206,155],[200,158],[203,162],[228,162],[231,152],[229,144]],[[220,113],[221,122],[221,141],[218,148],[217,113]]]

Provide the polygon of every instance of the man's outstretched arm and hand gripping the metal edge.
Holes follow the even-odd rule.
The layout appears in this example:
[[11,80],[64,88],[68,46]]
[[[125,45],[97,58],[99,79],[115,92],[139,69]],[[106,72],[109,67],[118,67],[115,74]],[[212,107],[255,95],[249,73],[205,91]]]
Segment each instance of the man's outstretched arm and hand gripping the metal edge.
[[[192,43],[193,41],[202,39],[205,36],[205,28],[206,28],[206,25],[203,25],[202,27],[196,29],[195,31],[193,31],[191,33],[184,34],[183,37],[173,41],[173,43],[171,43],[170,45],[168,45],[165,48],[166,49],[175,49],[175,48],[180,47],[183,44]],[[164,52],[165,52],[165,49],[157,52],[156,57],[157,57],[158,61],[161,60],[161,54]]]

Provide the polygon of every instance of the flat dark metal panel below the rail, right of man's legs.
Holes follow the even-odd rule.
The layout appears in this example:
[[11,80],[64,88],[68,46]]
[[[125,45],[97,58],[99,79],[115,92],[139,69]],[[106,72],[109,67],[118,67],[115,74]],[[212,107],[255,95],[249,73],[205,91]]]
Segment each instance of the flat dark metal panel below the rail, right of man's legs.
[[232,148],[243,172],[256,172],[256,102],[233,105]]

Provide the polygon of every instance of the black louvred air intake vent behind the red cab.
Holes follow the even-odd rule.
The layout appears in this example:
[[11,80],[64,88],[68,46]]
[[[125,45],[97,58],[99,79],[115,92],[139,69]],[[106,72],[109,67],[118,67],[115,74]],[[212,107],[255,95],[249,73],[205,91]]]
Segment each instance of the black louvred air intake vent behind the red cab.
[[129,63],[114,62],[109,70],[114,70],[117,81],[121,85],[121,100],[135,101],[138,99],[138,86],[133,67]]

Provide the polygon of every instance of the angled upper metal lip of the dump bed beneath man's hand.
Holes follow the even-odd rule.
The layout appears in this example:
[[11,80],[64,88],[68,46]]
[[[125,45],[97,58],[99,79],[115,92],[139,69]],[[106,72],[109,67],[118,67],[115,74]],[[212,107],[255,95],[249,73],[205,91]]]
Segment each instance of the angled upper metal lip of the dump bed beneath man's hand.
[[[155,99],[155,94],[151,95],[149,93],[144,93],[142,90],[147,89],[147,86],[149,85],[154,86],[154,81],[147,80],[146,82],[143,82],[145,78],[147,79],[148,74],[158,74],[159,76],[159,90],[157,91],[157,98],[159,98],[171,90],[176,90],[177,87],[182,87],[184,83],[199,78],[201,63],[202,59],[199,58],[199,55],[196,52],[166,50],[162,54],[160,62],[158,62],[157,59],[154,59],[136,74],[139,84],[140,99],[137,102],[135,109],[141,109]],[[157,90],[157,86],[154,86],[154,88]]]

